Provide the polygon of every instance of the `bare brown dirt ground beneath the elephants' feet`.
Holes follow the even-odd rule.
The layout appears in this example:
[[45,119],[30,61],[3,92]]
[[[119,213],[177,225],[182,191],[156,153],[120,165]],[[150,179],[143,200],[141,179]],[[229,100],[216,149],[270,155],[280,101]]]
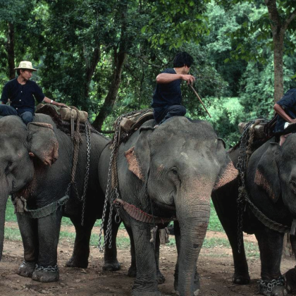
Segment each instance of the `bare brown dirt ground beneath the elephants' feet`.
[[[10,223],[12,224],[12,223]],[[13,225],[10,225],[10,227]],[[17,227],[17,226],[16,226]],[[66,227],[67,231],[73,228]],[[125,230],[119,235],[126,236]],[[207,238],[226,238],[223,233],[209,231]],[[245,240],[256,242],[254,236],[245,235]],[[63,240],[58,246],[58,266],[60,280],[58,283],[38,283],[31,278],[23,278],[16,274],[23,259],[21,242],[6,240],[4,256],[0,262],[0,295],[1,296],[32,296],[32,295],[85,295],[85,296],[128,296],[132,288],[133,279],[127,276],[130,266],[129,249],[118,250],[118,261],[121,271],[106,272],[101,270],[103,254],[96,247],[92,247],[88,269],[66,268],[66,261],[72,254],[73,246]],[[166,282],[159,285],[162,295],[175,295],[173,290],[173,271],[176,260],[176,250],[173,246],[161,246],[160,266]],[[248,259],[249,273],[252,278],[250,285],[240,286],[231,283],[233,275],[233,261],[231,250],[217,246],[202,249],[199,256],[199,274],[201,276],[202,296],[235,296],[256,295],[257,280],[260,276],[259,258]],[[283,258],[281,270],[284,273],[295,266],[294,259]]]

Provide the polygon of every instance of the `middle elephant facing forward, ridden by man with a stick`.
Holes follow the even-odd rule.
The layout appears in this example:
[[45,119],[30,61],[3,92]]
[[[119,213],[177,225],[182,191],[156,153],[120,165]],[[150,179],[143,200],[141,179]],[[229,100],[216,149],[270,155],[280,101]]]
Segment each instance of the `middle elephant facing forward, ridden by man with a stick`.
[[[206,121],[175,116],[156,128],[155,124],[147,121],[120,144],[116,162],[119,198],[109,202],[118,206],[135,252],[132,295],[160,295],[154,226],[164,227],[160,221],[172,217],[178,219],[179,229],[175,233],[175,290],[181,296],[197,295],[197,259],[209,223],[211,192],[235,179],[238,171],[226,154],[223,140]],[[99,159],[104,192],[110,157],[111,149],[106,147]],[[145,220],[147,217],[150,220]]]

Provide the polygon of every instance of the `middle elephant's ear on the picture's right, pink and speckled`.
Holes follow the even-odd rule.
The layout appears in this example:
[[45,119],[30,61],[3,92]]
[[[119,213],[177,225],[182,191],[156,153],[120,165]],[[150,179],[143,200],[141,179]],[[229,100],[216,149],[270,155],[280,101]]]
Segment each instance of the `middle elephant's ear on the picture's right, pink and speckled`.
[[230,160],[225,147],[225,142],[222,139],[218,138],[216,158],[221,164],[221,170],[218,174],[213,191],[218,190],[218,188],[221,188],[238,178],[238,170],[233,166],[233,162]]

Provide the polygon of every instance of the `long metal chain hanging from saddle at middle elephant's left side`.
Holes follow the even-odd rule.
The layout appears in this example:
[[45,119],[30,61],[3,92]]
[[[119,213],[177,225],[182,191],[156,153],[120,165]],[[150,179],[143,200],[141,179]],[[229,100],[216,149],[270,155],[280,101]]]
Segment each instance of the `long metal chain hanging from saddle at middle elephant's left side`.
[[[116,198],[120,198],[119,192],[118,192],[119,187],[118,187],[118,173],[117,173],[117,154],[118,154],[119,145],[121,144],[121,121],[125,117],[132,116],[136,113],[145,113],[149,110],[150,109],[132,111],[130,113],[119,116],[116,120],[115,133],[114,133],[113,141],[111,142],[111,156],[109,161],[108,180],[107,180],[107,187],[106,187],[104,209],[101,217],[101,228],[99,230],[99,244],[98,244],[99,252],[104,252],[106,245],[108,245],[108,240],[109,240],[109,248],[111,249],[113,203]],[[103,245],[101,243],[101,237],[104,229],[108,202],[110,204],[109,218],[108,218],[107,229],[105,234],[106,236],[104,238],[104,245]],[[119,209],[117,209],[117,211],[119,211]]]

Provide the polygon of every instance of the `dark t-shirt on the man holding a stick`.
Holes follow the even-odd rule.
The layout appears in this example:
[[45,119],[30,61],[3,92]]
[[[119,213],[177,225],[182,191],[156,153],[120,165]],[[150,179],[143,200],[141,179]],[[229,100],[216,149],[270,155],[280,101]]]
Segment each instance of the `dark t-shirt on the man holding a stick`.
[[[176,74],[174,69],[166,69],[161,73]],[[169,83],[157,83],[153,94],[152,108],[166,108],[168,106],[180,105],[182,101],[181,80]]]

